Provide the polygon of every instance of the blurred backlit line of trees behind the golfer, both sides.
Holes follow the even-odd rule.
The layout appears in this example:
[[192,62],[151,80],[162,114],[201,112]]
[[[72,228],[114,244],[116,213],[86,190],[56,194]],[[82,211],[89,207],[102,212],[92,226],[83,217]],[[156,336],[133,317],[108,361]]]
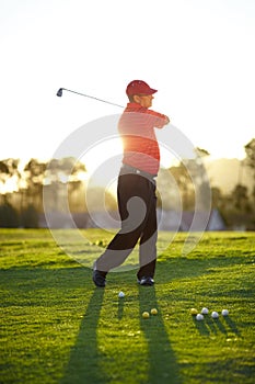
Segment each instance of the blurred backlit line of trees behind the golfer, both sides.
[[[211,189],[211,206],[219,210],[227,228],[230,229],[234,227],[255,229],[255,138],[244,148],[246,158],[243,161],[251,169],[253,177],[252,194],[248,193],[246,185],[239,183],[228,194],[219,188]],[[183,211],[193,211],[199,196],[198,210],[205,208],[208,203],[207,180],[201,158],[207,156],[208,151],[197,148],[194,159],[183,159],[160,172],[159,206],[169,211],[175,210],[177,201],[181,200]],[[60,212],[61,195],[66,188],[70,211],[88,212],[85,176],[85,165],[74,158],[49,161],[31,159],[24,166],[21,166],[20,159],[0,160],[0,227],[38,227],[39,215],[44,213],[43,195],[47,195],[51,210]],[[94,196],[90,210],[98,210],[98,200],[102,199],[106,210],[117,210],[116,200],[111,192],[104,191],[103,188],[94,188],[90,193]]]

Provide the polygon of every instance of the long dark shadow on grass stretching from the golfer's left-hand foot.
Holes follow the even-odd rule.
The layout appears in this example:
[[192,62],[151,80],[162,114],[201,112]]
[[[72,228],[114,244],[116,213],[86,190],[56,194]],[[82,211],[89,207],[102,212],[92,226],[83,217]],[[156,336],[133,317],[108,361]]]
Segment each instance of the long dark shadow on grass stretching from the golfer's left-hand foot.
[[80,325],[77,341],[60,384],[106,383],[102,372],[101,355],[97,349],[96,329],[100,319],[104,290],[95,289]]

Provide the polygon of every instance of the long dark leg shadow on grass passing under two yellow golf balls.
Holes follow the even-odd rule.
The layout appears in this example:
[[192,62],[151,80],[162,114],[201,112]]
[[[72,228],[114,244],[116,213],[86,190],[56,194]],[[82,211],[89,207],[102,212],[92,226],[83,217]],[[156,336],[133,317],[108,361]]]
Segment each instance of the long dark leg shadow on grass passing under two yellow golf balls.
[[[177,361],[158,307],[154,286],[139,286],[140,327],[148,342],[148,384],[181,384]],[[158,315],[142,318],[144,310],[158,308]]]

